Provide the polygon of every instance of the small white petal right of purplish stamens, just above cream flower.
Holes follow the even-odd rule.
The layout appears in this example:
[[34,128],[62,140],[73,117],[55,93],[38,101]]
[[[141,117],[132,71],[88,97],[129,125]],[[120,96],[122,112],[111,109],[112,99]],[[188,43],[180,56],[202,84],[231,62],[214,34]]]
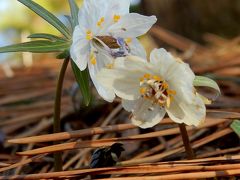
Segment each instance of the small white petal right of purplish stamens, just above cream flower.
[[131,55],[147,59],[146,50],[137,38],[132,38],[131,42],[128,43],[128,46],[130,48]]

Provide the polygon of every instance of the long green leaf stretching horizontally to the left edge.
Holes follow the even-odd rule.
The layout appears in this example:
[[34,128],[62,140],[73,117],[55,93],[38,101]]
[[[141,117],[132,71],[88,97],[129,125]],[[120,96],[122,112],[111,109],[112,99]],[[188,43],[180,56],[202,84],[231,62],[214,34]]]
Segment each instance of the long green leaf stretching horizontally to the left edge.
[[70,43],[63,41],[31,41],[10,46],[0,47],[0,53],[6,52],[32,52],[32,53],[48,53],[62,52],[69,49]]

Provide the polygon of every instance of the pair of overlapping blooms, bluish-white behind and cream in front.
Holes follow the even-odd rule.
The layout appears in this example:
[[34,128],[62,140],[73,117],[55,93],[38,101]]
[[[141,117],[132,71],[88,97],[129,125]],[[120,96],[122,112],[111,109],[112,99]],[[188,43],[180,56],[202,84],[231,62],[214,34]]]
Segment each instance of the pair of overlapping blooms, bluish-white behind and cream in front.
[[133,113],[133,124],[149,128],[168,116],[198,126],[206,116],[189,65],[164,49],[147,61],[137,37],[157,21],[129,13],[130,0],[85,0],[73,33],[71,57],[80,70],[88,67],[98,93],[112,102],[115,95]]

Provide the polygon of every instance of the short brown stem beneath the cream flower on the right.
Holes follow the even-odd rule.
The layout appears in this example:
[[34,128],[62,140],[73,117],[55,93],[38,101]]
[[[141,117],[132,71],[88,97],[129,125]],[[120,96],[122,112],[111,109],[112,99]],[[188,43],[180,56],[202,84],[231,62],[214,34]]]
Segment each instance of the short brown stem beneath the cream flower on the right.
[[184,144],[185,151],[187,153],[188,159],[194,159],[195,154],[194,154],[193,149],[191,147],[185,124],[179,124],[179,128],[180,128],[183,144]]

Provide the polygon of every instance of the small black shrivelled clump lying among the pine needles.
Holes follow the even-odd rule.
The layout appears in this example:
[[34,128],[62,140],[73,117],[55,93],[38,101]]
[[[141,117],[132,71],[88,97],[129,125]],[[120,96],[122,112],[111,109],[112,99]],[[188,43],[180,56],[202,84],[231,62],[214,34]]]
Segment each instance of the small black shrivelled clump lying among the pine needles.
[[[101,167],[112,167],[118,162],[124,148],[123,144],[115,143],[110,147],[99,148],[93,152],[90,167],[101,168]],[[94,178],[105,178],[110,177],[109,175],[96,175]],[[93,177],[92,177],[93,178]]]

